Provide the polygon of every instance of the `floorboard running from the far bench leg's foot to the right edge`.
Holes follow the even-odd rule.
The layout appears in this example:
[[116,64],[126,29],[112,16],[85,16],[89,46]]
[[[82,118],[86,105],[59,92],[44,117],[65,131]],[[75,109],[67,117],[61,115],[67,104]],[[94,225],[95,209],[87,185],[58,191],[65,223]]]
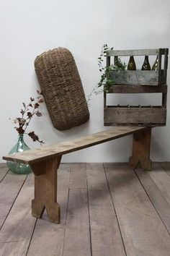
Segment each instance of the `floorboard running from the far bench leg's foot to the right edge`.
[[[153,172],[154,172],[153,168]],[[138,175],[138,179],[143,184],[144,189],[154,207],[156,208],[158,215],[161,217],[161,220],[164,222],[166,229],[168,229],[170,234],[170,204],[166,200],[166,197],[161,193],[161,190],[158,189],[151,176],[148,174],[148,171],[143,171],[141,168],[136,168],[135,173]]]

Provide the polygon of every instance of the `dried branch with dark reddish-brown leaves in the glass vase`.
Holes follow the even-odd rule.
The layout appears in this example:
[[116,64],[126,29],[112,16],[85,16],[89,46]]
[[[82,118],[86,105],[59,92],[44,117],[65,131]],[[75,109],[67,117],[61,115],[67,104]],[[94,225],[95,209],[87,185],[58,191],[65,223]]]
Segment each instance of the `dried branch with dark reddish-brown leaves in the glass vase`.
[[40,142],[40,144],[42,145],[44,142],[39,139],[39,137],[35,134],[34,131],[29,133],[26,132],[26,129],[29,126],[32,117],[42,116],[41,112],[39,111],[39,106],[41,103],[44,102],[44,98],[39,90],[37,90],[37,94],[37,98],[30,97],[30,103],[22,103],[23,107],[20,111],[21,117],[16,117],[13,121],[14,124],[17,124],[17,126],[15,126],[14,129],[16,129],[19,135],[28,135],[29,137],[32,138],[33,141]]

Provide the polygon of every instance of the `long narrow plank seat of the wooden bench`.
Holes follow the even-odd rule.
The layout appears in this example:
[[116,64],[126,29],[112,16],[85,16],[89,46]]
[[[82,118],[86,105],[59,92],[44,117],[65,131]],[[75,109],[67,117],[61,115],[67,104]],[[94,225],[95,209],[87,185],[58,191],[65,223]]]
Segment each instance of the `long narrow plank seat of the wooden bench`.
[[140,129],[145,128],[114,127],[113,129],[109,129],[104,132],[97,132],[94,135],[89,135],[86,137],[80,137],[76,140],[61,142],[55,145],[42,146],[41,148],[37,148],[35,150],[27,150],[15,155],[6,155],[3,157],[3,159],[9,161],[19,161],[22,163],[36,163],[45,161],[48,158],[53,158],[58,155],[71,153],[73,151],[88,148],[93,145],[107,142],[109,140],[115,140],[123,136],[131,135],[134,132],[138,132]]

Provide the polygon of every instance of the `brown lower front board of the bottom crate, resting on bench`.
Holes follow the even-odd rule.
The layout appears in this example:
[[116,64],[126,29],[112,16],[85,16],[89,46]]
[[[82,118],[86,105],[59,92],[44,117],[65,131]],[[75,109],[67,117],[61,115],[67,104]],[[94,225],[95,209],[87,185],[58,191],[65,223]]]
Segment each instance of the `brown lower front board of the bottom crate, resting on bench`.
[[104,124],[166,124],[166,108],[107,107]]

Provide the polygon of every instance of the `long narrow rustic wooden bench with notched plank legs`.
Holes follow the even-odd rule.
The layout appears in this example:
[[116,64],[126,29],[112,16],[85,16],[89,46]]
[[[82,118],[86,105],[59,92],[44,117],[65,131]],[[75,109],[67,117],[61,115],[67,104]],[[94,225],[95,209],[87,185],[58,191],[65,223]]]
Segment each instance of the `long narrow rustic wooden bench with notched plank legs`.
[[114,127],[76,140],[42,146],[15,155],[6,155],[3,159],[30,164],[35,174],[35,199],[32,200],[32,216],[40,218],[46,208],[50,221],[59,223],[57,169],[62,155],[130,134],[133,134],[133,155],[130,158],[130,166],[135,168],[140,162],[143,169],[151,170],[151,160],[149,159],[151,128],[146,127]]

